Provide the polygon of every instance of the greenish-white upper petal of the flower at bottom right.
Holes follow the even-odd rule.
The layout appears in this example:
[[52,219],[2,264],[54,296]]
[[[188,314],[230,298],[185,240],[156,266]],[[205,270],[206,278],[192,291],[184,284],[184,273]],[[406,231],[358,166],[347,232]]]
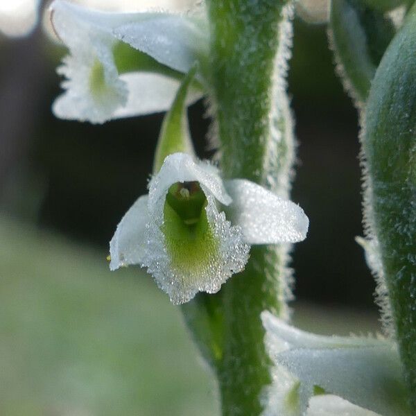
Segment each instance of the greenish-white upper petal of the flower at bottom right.
[[388,340],[316,336],[268,312],[261,318],[270,357],[302,383],[319,385],[384,416],[406,415],[406,389],[396,345]]

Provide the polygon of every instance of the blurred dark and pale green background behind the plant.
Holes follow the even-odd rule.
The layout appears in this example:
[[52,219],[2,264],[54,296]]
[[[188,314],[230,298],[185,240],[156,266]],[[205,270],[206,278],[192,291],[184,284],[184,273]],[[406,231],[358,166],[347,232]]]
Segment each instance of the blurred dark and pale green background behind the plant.
[[[0,414],[218,415],[216,385],[180,311],[138,268],[110,273],[116,224],[146,191],[162,115],[55,119],[64,51],[42,31],[0,37]],[[324,26],[295,22],[289,91],[299,141],[295,322],[378,328],[361,235],[356,111]],[[209,120],[189,109],[200,157]]]

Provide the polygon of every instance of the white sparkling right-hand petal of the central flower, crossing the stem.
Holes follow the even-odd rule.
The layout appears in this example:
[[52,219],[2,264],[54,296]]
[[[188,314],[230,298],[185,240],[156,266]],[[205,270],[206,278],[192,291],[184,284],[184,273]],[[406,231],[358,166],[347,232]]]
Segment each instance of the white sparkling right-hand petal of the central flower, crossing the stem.
[[296,243],[306,238],[309,219],[302,208],[248,180],[226,182],[232,198],[232,223],[243,230],[246,243]]

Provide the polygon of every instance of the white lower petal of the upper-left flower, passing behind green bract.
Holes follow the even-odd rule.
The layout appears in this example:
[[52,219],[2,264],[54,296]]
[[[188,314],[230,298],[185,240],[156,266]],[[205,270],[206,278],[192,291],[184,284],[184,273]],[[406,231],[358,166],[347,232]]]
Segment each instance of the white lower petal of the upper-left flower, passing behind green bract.
[[[128,100],[113,114],[114,119],[138,114],[153,114],[171,108],[180,82],[157,73],[132,72],[120,76],[128,90]],[[191,105],[202,96],[190,89],[187,104]]]

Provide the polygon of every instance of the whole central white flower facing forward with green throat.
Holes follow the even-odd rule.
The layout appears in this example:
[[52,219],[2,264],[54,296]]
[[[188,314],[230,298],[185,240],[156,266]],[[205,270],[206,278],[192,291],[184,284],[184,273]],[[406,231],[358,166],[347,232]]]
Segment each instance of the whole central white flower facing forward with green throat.
[[119,223],[110,268],[147,267],[180,304],[218,292],[243,270],[250,244],[301,241],[308,226],[293,202],[248,180],[223,181],[215,166],[175,153]]

